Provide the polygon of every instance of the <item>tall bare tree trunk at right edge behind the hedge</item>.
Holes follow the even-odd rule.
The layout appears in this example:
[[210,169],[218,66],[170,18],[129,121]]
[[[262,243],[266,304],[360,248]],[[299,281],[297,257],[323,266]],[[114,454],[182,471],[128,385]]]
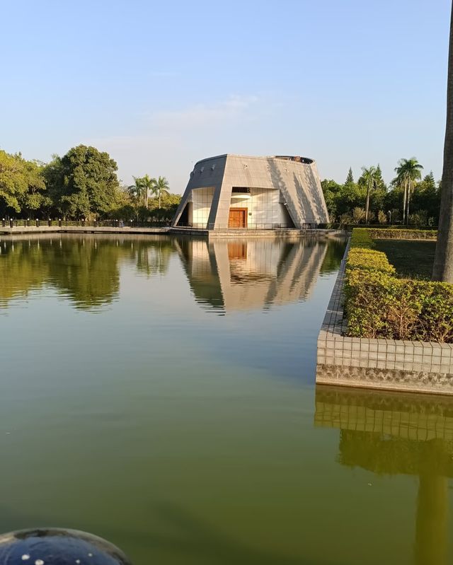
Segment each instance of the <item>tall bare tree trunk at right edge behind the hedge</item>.
[[432,280],[453,283],[453,8],[450,20],[442,194]]

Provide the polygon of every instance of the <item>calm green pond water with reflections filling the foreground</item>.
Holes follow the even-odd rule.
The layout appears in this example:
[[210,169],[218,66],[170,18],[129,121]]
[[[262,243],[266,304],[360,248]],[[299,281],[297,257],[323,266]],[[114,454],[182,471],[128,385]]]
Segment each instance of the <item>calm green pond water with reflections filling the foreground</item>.
[[315,386],[345,243],[0,240],[0,531],[134,565],[447,565],[453,400]]

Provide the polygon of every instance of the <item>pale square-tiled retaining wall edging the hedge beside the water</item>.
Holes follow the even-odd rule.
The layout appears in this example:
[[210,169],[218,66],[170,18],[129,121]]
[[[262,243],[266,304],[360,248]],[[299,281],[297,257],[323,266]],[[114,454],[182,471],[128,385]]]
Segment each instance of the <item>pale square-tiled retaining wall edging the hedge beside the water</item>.
[[348,250],[319,332],[316,383],[453,394],[453,344],[345,337]]

